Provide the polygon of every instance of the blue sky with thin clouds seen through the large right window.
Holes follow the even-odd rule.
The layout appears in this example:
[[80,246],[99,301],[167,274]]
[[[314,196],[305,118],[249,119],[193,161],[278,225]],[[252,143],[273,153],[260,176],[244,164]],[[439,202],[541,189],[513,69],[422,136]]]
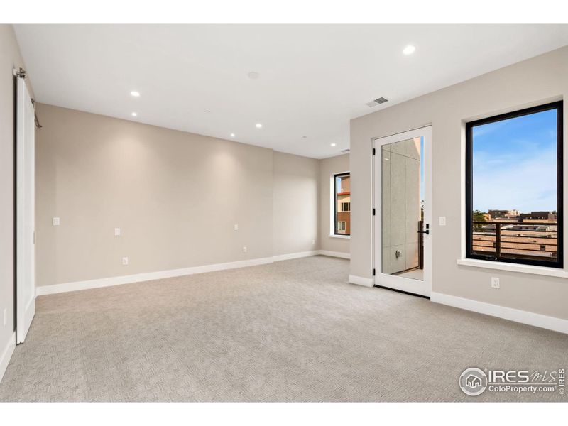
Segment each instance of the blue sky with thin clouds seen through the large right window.
[[475,126],[474,210],[556,210],[556,110]]

